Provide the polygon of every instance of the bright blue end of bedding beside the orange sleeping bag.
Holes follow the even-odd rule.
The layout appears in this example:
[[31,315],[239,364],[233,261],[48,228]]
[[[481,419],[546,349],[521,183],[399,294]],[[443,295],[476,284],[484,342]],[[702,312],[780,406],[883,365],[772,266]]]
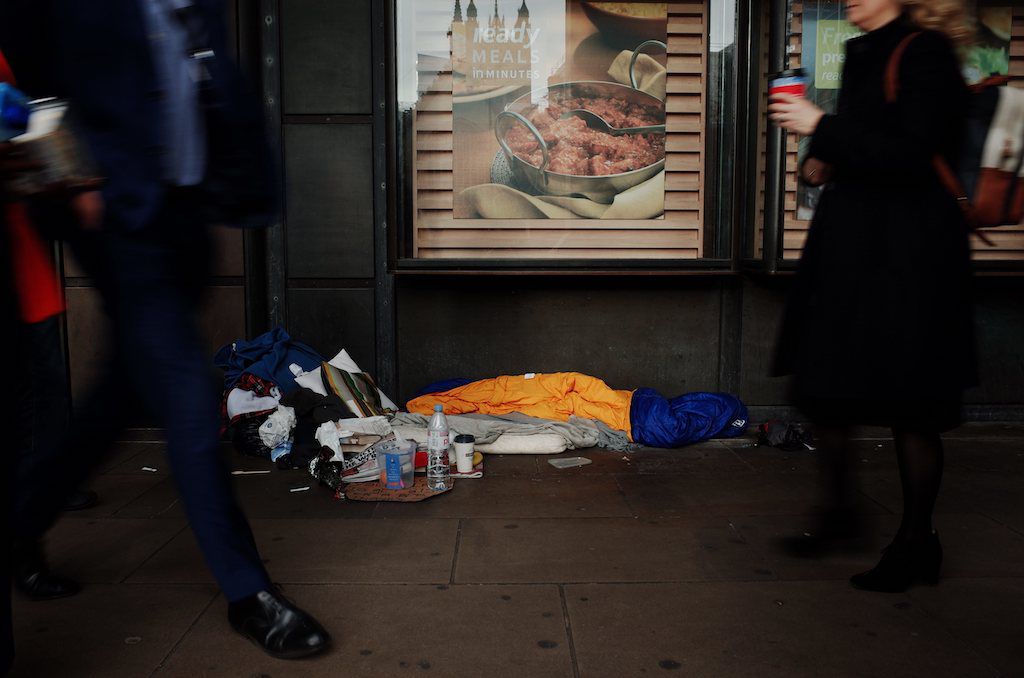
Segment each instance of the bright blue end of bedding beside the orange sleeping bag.
[[633,440],[651,448],[735,437],[746,423],[746,406],[728,393],[685,393],[670,400],[653,388],[638,388],[630,406]]

